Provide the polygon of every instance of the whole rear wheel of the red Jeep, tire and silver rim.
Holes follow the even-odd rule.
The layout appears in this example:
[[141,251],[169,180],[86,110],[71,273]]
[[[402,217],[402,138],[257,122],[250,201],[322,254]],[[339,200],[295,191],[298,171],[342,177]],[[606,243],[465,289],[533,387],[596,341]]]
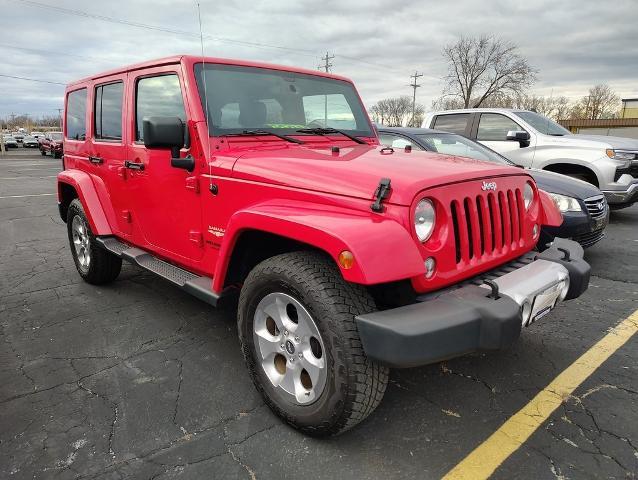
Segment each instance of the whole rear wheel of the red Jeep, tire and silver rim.
[[122,269],[122,259],[97,244],[78,199],[69,205],[66,223],[73,261],[80,276],[95,285],[115,280]]

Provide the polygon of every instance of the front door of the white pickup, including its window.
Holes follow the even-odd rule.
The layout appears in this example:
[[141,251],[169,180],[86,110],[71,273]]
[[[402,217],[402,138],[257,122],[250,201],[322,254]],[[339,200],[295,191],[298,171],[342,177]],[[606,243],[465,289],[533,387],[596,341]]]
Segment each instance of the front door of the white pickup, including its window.
[[507,132],[525,131],[514,120],[500,113],[481,113],[476,131],[476,141],[497,151],[517,165],[531,167],[534,160],[535,138],[530,145],[521,147],[519,142],[507,140]]

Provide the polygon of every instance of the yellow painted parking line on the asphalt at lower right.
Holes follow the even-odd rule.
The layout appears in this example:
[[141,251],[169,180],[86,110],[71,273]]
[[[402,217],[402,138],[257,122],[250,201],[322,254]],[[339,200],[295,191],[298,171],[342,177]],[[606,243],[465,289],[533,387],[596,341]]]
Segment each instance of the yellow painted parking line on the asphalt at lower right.
[[638,331],[638,310],[558,375],[552,383],[450,470],[444,480],[488,478],[578,386]]

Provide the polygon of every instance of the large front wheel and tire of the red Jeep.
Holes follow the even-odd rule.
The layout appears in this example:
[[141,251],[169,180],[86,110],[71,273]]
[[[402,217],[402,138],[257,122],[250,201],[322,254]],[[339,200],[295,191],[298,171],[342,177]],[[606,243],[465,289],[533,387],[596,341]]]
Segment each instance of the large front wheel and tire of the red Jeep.
[[244,358],[268,406],[313,435],[338,434],[377,407],[388,369],[366,357],[354,317],[375,310],[320,253],[292,252],[257,265],[239,297]]

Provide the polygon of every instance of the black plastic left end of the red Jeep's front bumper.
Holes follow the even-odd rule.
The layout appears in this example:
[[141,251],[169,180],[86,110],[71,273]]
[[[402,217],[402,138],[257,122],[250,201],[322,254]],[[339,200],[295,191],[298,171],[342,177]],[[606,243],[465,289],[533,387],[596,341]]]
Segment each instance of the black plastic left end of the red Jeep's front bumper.
[[407,368],[507,348],[520,336],[521,309],[510,297],[489,294],[489,289],[470,285],[427,302],[359,315],[366,355]]

